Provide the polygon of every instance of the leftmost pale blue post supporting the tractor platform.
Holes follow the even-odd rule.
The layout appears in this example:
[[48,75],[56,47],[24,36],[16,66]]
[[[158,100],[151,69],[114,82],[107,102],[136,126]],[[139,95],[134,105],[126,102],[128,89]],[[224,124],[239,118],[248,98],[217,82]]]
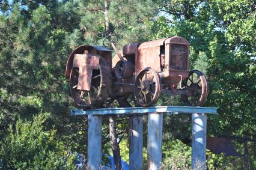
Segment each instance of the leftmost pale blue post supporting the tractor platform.
[[88,115],[87,169],[98,170],[102,160],[102,117]]

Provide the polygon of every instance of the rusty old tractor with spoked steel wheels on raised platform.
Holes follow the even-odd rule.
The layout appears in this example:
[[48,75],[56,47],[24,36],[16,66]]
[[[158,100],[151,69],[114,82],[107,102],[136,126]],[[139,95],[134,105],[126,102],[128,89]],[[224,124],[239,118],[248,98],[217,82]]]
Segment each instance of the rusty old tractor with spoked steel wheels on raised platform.
[[110,49],[92,45],[79,46],[69,56],[66,77],[78,106],[105,108],[115,99],[125,106],[127,98],[134,96],[136,106],[147,107],[163,93],[180,95],[186,106],[201,106],[206,101],[207,80],[200,71],[189,70],[185,38],[126,44],[121,52],[114,49],[113,59]]

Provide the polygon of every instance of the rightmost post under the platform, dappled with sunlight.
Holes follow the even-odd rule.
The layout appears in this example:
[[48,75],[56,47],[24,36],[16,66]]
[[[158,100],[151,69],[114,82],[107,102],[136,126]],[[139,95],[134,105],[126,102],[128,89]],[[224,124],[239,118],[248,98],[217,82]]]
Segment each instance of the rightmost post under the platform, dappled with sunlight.
[[206,169],[206,114],[192,114],[192,169]]

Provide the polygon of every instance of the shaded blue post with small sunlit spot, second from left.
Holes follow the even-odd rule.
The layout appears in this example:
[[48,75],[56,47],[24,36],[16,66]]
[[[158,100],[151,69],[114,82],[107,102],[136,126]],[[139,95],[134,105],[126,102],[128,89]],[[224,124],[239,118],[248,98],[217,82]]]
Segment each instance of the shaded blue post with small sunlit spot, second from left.
[[142,116],[130,117],[129,161],[130,170],[142,169],[143,166],[143,120]]

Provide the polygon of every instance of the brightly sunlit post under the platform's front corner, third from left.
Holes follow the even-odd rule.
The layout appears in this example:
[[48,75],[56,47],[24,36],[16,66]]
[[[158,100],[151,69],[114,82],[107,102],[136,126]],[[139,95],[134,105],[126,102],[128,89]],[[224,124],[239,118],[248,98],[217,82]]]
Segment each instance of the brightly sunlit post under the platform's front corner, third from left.
[[163,114],[148,114],[147,169],[157,170],[162,163]]

